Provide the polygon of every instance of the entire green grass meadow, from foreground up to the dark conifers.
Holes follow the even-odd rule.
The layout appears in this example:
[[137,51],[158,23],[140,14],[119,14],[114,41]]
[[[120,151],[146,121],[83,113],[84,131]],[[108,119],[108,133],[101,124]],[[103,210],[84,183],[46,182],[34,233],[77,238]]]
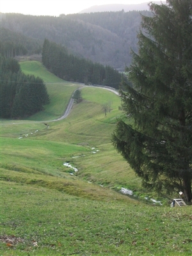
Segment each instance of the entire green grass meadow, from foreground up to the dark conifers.
[[[145,191],[111,145],[122,115],[119,97],[82,88],[83,102],[48,128],[45,121],[63,114],[79,85],[60,81],[36,61],[21,67],[44,77],[51,103],[28,120],[1,120],[0,254],[191,255],[191,207],[171,208]],[[105,116],[108,100],[112,110]],[[140,198],[122,195],[121,187]],[[147,195],[163,205],[141,200]]]

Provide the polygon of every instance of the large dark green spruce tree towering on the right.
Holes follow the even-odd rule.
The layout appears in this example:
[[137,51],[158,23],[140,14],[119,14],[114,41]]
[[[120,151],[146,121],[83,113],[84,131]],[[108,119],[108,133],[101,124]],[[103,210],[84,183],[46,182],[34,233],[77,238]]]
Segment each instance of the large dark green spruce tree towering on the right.
[[[190,202],[192,179],[192,1],[150,3],[142,17],[138,54],[132,52],[122,82],[125,119],[113,144],[143,185],[157,191],[182,191]],[[130,125],[132,124],[132,125]]]

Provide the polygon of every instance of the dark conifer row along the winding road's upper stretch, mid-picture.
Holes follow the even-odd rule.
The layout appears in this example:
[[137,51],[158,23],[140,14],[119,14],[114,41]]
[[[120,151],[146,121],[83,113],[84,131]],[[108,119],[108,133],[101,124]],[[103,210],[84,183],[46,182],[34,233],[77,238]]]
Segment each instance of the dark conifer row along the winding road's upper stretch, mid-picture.
[[53,74],[67,81],[84,84],[101,84],[118,88],[122,79],[113,67],[104,67],[69,53],[66,47],[44,40],[42,63]]

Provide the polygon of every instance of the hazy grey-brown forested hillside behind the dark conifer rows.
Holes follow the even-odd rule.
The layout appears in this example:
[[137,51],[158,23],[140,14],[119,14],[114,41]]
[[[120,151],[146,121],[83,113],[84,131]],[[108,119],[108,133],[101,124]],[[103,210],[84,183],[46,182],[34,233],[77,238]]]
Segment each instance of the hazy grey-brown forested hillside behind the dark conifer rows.
[[[150,15],[148,11],[141,12]],[[26,36],[38,52],[44,39],[61,44],[76,56],[124,70],[131,63],[131,48],[137,51],[140,12],[102,12],[74,15],[32,16],[2,13],[1,28]],[[3,38],[7,30],[3,30]],[[26,38],[25,37],[25,38]],[[33,39],[33,40],[32,40]],[[4,39],[5,40],[5,39]],[[26,40],[24,40],[26,41]],[[32,46],[28,51],[31,51]]]

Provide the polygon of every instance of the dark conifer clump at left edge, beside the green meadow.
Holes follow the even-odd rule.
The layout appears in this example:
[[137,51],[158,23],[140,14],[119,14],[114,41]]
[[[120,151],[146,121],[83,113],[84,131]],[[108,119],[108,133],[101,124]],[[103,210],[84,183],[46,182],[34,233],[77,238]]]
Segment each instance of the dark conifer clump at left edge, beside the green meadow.
[[39,77],[26,76],[13,58],[1,61],[1,118],[26,118],[43,109],[49,103],[44,81]]

